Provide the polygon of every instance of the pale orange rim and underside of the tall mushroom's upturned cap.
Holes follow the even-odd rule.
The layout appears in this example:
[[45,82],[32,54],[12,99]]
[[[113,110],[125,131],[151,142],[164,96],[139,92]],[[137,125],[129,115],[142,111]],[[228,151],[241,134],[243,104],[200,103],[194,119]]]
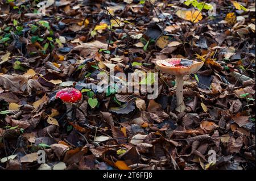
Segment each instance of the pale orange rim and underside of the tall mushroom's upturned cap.
[[176,60],[181,60],[181,58],[168,58],[166,60],[158,60],[155,63],[159,67],[159,69],[165,73],[168,73],[171,75],[183,75],[183,76],[196,73],[204,65],[204,62],[196,62],[196,61],[193,61],[192,65],[188,67],[183,66],[182,68],[176,67],[176,66],[164,66],[162,64],[164,61],[170,62],[170,61],[176,61]]

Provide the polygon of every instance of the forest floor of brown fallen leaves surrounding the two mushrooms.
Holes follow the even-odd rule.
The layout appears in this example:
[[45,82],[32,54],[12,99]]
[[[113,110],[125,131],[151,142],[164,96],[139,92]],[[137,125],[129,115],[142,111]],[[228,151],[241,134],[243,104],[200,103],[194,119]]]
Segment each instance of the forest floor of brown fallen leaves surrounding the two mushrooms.
[[[155,64],[167,58],[204,62],[183,77],[183,112],[175,75]],[[115,81],[102,89],[101,75]],[[56,98],[65,87],[80,102]],[[0,1],[0,159],[0,169],[255,169],[255,1]]]

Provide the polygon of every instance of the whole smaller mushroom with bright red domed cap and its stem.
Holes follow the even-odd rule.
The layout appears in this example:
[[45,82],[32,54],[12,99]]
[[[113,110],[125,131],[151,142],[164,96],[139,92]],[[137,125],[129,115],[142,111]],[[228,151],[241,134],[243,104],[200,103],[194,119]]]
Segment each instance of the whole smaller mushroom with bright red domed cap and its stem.
[[82,99],[82,93],[75,88],[65,88],[57,91],[56,98],[60,98],[66,104],[67,109],[70,109],[60,118],[61,120],[65,115],[68,115],[69,112],[76,108],[76,104]]

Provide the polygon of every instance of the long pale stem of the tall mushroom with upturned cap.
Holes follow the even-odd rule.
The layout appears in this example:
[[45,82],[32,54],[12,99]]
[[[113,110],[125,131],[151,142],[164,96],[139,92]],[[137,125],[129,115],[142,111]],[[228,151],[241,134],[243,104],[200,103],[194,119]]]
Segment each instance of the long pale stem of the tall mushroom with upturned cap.
[[183,75],[176,76],[176,99],[177,99],[177,112],[183,112],[185,110],[185,104],[183,102]]

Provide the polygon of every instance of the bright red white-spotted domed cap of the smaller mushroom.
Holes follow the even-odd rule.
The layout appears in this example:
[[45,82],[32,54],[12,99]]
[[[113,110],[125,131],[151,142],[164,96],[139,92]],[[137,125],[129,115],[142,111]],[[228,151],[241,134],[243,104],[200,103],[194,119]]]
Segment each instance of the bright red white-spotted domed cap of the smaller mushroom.
[[82,93],[75,88],[65,88],[56,93],[56,98],[60,98],[65,103],[76,103],[81,100]]

